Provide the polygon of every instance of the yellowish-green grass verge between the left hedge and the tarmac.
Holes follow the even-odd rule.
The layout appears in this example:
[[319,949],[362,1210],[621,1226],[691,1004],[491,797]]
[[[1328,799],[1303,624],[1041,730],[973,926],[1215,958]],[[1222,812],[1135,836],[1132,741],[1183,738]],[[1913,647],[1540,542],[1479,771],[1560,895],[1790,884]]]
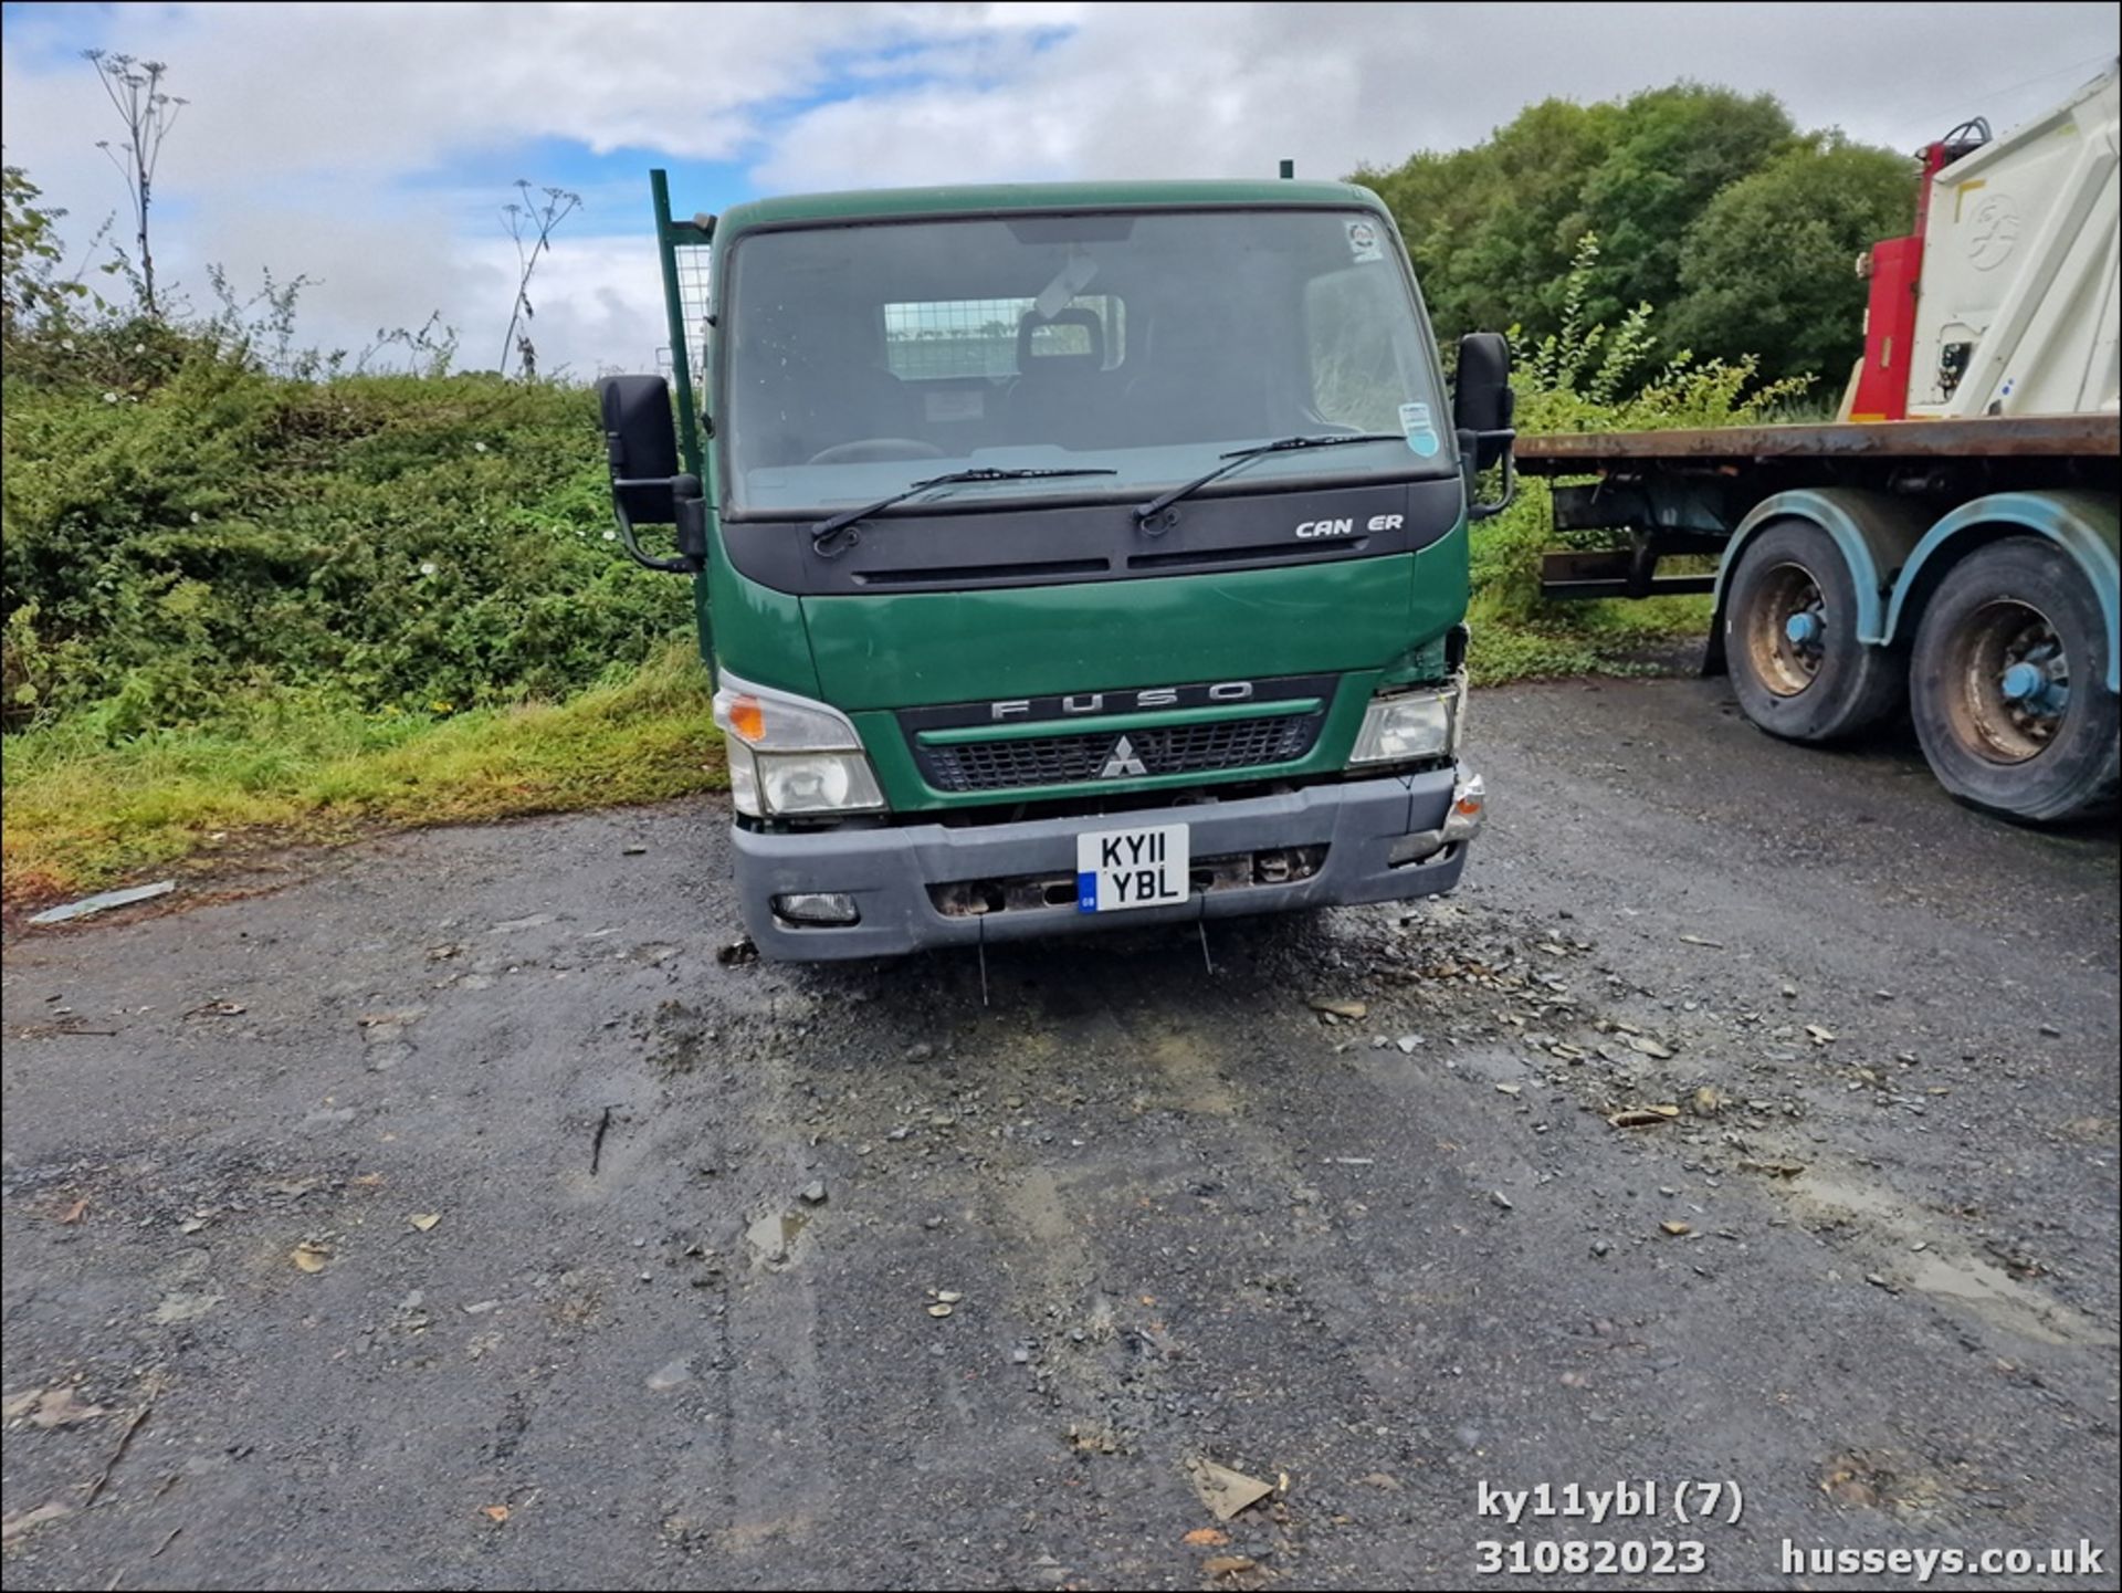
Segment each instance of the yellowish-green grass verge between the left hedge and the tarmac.
[[6,738],[0,889],[28,906],[261,834],[329,842],[726,785],[685,643],[560,704],[435,717],[274,696],[117,742],[74,719]]

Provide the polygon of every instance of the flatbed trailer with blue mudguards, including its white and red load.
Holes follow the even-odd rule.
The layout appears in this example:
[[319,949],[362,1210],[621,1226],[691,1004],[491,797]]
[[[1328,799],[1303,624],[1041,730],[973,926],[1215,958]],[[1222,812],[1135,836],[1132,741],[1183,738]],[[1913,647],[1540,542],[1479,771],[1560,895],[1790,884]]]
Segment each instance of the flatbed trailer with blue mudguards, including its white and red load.
[[[2118,78],[1918,153],[1861,263],[1842,418],[1517,439],[1553,477],[1551,598],[1715,596],[1706,651],[1797,742],[1908,702],[1937,781],[2024,821],[2116,800]],[[1693,556],[1695,568],[1659,573]],[[1715,560],[1715,573],[1700,558]]]

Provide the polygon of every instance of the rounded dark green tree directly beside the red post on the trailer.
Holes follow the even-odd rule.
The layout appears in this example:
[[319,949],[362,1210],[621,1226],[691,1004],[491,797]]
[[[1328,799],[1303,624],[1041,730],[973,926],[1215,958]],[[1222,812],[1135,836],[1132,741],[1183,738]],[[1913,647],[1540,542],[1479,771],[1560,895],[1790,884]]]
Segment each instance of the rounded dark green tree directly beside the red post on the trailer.
[[1721,358],[1840,386],[1863,352],[1857,257],[1914,225],[1916,174],[1842,134],[1787,151],[1719,193],[1687,229],[1672,337]]

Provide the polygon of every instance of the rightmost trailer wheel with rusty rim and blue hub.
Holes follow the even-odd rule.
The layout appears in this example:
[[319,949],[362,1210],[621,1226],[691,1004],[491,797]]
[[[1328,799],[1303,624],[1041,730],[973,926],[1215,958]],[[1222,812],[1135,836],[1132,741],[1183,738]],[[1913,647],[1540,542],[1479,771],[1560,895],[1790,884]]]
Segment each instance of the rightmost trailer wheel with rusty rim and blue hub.
[[1910,700],[1937,783],[2048,823],[2114,804],[2107,626],[2067,552],[2010,537],[1954,564],[1916,626]]

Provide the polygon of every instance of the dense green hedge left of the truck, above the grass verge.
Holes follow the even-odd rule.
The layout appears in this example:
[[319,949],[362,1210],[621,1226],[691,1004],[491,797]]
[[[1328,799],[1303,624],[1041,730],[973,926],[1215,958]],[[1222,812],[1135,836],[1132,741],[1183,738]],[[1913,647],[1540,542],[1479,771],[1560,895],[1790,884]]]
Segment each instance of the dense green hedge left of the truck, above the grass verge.
[[91,380],[47,363],[6,388],[11,725],[93,713],[127,736],[280,689],[422,713],[560,698],[685,626],[679,583],[607,541],[586,390],[310,382],[110,331],[64,339]]

